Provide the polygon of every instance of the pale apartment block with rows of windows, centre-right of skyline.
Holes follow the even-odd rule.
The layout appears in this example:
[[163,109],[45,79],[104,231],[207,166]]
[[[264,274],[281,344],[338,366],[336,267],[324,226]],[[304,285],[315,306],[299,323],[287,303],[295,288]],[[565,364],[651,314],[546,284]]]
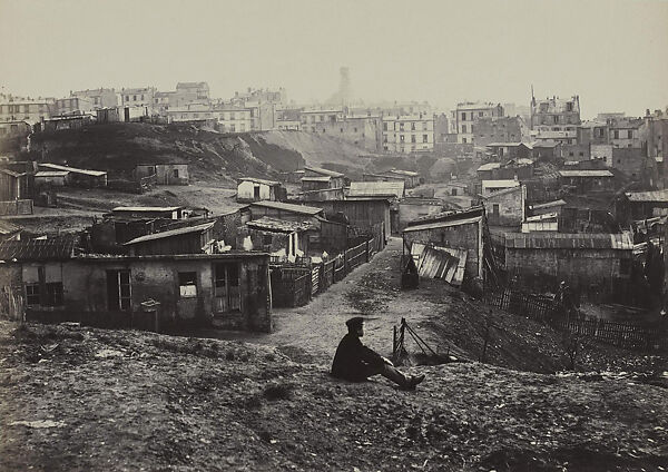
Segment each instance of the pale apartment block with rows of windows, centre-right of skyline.
[[434,148],[433,115],[385,116],[382,136],[383,149],[387,151],[431,151]]

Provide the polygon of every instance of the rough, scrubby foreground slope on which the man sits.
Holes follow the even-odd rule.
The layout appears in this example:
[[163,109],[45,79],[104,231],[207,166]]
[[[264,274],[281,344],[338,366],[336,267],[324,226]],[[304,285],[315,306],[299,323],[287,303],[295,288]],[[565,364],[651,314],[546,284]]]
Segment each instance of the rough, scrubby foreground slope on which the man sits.
[[428,381],[402,392],[272,347],[7,322],[0,360],[3,471],[668,465],[651,385],[469,363],[415,367]]

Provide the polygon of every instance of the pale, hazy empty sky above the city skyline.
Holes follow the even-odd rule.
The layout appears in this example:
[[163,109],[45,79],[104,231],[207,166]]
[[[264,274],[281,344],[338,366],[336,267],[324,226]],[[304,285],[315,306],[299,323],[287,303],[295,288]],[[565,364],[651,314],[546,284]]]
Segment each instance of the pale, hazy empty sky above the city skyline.
[[668,106],[668,0],[0,0],[0,88],[18,96],[207,81],[324,101],[528,105],[583,118]]

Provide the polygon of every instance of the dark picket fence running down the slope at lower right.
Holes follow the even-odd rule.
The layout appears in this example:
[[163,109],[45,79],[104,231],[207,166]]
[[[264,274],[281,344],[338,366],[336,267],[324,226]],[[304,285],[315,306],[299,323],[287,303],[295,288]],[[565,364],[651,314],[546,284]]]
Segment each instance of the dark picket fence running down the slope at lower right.
[[629,350],[668,348],[668,330],[665,325],[640,325],[587,318],[568,311],[551,298],[513,291],[488,287],[484,302],[515,315],[546,323],[558,331],[590,337],[597,342]]

